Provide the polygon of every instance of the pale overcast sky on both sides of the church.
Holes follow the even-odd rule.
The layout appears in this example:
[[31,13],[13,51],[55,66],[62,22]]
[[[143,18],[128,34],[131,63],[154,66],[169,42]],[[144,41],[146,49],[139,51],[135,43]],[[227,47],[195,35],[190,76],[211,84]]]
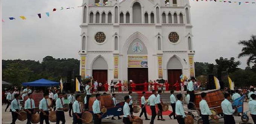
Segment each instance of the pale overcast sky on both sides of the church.
[[[2,2],[2,18],[5,20],[2,23],[3,59],[32,59],[41,62],[47,55],[79,59],[82,8],[58,12],[52,12],[52,9],[80,6],[82,0]],[[221,56],[236,57],[236,60],[242,62],[240,68],[245,68],[247,58],[237,58],[242,48],[238,42],[250,39],[252,34],[256,35],[256,4],[190,1],[190,6],[195,61],[215,63],[215,59]],[[45,12],[49,12],[50,17]],[[38,13],[41,13],[41,19]],[[21,15],[27,20],[21,20]],[[16,20],[8,20],[9,17],[15,17]]]

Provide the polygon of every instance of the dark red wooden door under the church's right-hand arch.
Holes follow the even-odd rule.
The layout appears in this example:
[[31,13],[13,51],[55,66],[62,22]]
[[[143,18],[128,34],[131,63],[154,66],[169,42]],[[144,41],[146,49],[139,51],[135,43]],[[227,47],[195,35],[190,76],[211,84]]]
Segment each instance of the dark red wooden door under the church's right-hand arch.
[[173,85],[177,81],[180,83],[180,75],[181,74],[182,74],[181,69],[169,69],[168,70],[169,89],[175,89],[175,87],[173,87]]

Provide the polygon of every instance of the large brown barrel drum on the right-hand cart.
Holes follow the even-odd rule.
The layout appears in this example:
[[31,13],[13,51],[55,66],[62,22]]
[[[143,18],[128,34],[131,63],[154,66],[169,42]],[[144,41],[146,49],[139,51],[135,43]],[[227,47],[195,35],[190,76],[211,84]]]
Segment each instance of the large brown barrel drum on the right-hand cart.
[[[218,114],[222,113],[221,102],[224,100],[224,95],[222,91],[219,89],[214,89],[214,90],[208,90],[203,92],[207,94],[206,101],[208,103],[209,108],[215,109],[218,112]],[[202,100],[201,93],[202,92],[195,93],[195,106],[198,109],[199,109],[199,102]]]

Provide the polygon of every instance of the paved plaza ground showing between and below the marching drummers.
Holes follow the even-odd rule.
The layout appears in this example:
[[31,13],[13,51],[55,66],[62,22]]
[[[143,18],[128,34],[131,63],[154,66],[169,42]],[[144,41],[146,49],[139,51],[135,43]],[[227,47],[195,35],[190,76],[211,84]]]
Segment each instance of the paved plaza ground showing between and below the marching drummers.
[[[12,120],[12,115],[11,115],[11,112],[5,112],[5,107],[6,107],[5,104],[2,105],[3,124],[10,124],[11,120]],[[171,108],[171,106],[169,106],[169,108]],[[244,111],[247,111],[248,109],[249,109],[248,108],[248,103],[244,103]],[[139,113],[135,113],[134,115],[135,116],[139,116]],[[69,113],[68,112],[65,112],[65,116],[66,116],[66,124],[72,124],[72,118],[69,117]],[[149,116],[149,115],[148,115],[148,117],[151,118],[151,116]],[[117,117],[115,117],[115,118],[117,119]],[[166,123],[166,124],[178,124],[177,120],[170,119],[167,115],[163,116],[163,118],[166,119],[166,120],[165,121],[157,121],[157,120],[155,120],[155,124],[163,124],[163,123]],[[144,120],[145,119],[144,115],[142,116],[142,119],[143,119],[143,124],[149,124],[150,120]],[[235,116],[235,121],[236,121],[236,124],[239,124],[239,122],[241,121],[241,117],[240,116]],[[251,122],[253,124],[251,116],[250,116],[249,122]],[[120,119],[120,120],[104,119],[102,121],[102,124],[122,124],[122,123],[123,123],[122,119]],[[213,121],[210,122],[210,123],[211,124],[216,124]],[[16,124],[26,124],[26,121],[22,122],[22,121],[17,120]],[[55,124],[55,122],[50,122],[50,124]],[[91,124],[93,124],[93,122]],[[197,121],[194,121],[194,124],[197,124]],[[224,120],[220,119],[218,124],[224,124]]]

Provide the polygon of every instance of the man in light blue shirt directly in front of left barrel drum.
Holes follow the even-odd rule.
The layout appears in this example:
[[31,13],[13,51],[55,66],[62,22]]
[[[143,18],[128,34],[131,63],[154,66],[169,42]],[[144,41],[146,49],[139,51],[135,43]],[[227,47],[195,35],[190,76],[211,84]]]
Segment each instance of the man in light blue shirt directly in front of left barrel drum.
[[101,124],[101,94],[96,94],[96,100],[93,102],[94,124]]

